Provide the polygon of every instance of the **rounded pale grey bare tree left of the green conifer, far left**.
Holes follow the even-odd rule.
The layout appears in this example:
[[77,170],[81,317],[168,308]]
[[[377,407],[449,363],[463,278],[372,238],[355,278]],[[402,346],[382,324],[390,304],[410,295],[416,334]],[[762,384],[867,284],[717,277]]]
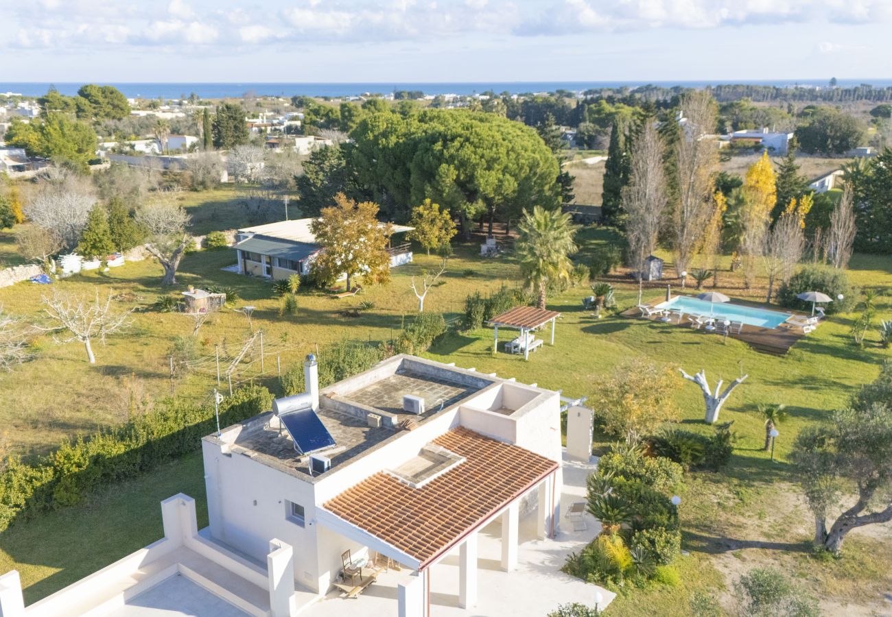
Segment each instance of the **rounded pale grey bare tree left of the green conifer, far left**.
[[73,250],[95,202],[92,187],[73,177],[63,177],[42,183],[24,210],[32,223],[55,234],[66,249]]

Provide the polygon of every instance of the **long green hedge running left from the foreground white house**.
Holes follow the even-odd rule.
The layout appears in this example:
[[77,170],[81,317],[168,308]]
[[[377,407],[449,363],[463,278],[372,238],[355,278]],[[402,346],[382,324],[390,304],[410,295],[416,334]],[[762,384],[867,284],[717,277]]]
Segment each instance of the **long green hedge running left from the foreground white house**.
[[[262,386],[237,390],[220,405],[220,424],[258,415],[270,401]],[[193,452],[216,426],[212,403],[169,399],[150,413],[63,443],[33,462],[6,457],[0,473],[0,531],[18,518],[75,506],[95,489]]]

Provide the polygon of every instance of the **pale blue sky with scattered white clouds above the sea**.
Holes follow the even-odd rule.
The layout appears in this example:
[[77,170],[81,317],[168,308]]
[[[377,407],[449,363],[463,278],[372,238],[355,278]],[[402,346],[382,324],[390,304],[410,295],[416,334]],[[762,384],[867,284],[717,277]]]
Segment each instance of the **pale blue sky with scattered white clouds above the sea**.
[[0,80],[890,78],[892,0],[0,0]]

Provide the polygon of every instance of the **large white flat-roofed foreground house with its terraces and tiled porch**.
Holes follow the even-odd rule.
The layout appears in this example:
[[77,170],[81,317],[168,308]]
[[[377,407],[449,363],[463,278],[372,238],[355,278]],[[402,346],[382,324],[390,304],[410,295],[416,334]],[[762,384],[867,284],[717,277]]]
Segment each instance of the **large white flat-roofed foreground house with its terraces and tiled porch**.
[[[593,604],[598,588],[559,572],[598,531],[582,513],[584,530],[560,525],[562,502],[584,499],[591,410],[566,406],[582,461],[565,464],[556,391],[405,355],[321,390],[309,356],[304,381],[202,440],[207,528],[176,495],[161,505],[164,539],[28,608],[17,572],[0,577],[0,614],[496,617]],[[613,594],[600,592],[604,608]]]

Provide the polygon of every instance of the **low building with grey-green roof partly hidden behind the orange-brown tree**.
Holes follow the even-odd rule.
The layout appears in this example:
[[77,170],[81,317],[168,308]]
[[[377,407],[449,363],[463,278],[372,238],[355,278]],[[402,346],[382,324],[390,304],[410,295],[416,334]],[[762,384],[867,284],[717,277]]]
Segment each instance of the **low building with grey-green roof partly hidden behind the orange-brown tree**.
[[[310,229],[312,222],[312,218],[295,218],[239,229],[233,245],[238,256],[239,274],[273,280],[285,279],[293,274],[310,274],[310,264],[322,250]],[[414,229],[403,225],[393,225],[392,228],[394,235]],[[391,256],[391,267],[412,261],[409,243],[392,244],[387,252]]]

